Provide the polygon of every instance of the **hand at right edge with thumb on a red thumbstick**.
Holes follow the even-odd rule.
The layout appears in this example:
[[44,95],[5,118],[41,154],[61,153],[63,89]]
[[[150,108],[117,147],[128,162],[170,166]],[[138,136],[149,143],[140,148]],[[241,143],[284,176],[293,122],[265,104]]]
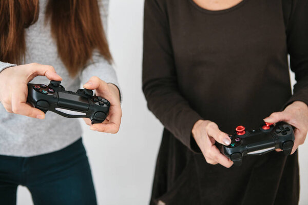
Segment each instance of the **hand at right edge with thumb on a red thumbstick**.
[[294,103],[287,106],[282,112],[274,112],[269,117],[266,117],[264,121],[269,123],[284,121],[295,128],[295,140],[291,152],[293,154],[298,146],[304,143],[307,136],[308,106],[302,101],[294,101]]

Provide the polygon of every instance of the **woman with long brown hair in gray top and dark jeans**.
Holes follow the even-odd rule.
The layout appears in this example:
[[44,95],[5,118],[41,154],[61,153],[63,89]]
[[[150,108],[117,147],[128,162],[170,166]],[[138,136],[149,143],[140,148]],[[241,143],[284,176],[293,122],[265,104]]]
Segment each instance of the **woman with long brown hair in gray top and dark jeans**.
[[70,91],[84,84],[111,104],[107,119],[90,129],[118,132],[120,92],[103,29],[107,7],[108,0],[0,2],[2,204],[16,203],[18,185],[34,204],[97,203],[78,119],[45,115],[26,99],[30,81],[62,80]]

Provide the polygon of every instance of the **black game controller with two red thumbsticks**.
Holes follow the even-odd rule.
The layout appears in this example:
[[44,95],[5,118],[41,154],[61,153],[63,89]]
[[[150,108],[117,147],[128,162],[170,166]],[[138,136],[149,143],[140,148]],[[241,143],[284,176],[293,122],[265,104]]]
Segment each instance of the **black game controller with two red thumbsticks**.
[[285,155],[290,155],[294,144],[293,128],[286,122],[278,122],[276,126],[265,122],[258,130],[250,132],[238,126],[229,137],[232,142],[229,146],[222,146],[222,151],[236,166],[242,164],[243,156],[261,155],[275,149],[282,149]]

